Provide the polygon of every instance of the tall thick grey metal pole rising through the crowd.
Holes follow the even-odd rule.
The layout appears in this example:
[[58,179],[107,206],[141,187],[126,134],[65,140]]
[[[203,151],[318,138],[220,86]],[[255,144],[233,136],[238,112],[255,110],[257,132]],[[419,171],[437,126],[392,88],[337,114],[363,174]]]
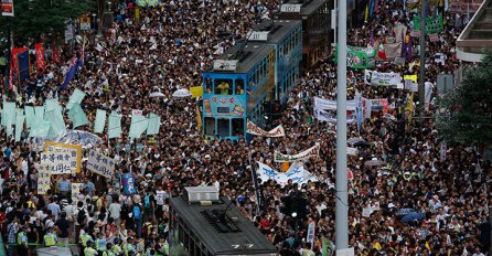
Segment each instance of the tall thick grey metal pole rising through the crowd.
[[339,2],[336,66],[336,249],[349,248],[349,181],[346,177],[346,0]]

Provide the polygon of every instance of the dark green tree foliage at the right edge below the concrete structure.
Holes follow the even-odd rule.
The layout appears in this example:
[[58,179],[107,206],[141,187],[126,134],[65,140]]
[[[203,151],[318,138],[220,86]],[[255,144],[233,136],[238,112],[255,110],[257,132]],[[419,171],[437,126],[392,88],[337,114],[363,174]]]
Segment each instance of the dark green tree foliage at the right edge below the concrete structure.
[[443,115],[437,127],[449,142],[492,145],[492,55],[469,68],[453,92],[441,98]]

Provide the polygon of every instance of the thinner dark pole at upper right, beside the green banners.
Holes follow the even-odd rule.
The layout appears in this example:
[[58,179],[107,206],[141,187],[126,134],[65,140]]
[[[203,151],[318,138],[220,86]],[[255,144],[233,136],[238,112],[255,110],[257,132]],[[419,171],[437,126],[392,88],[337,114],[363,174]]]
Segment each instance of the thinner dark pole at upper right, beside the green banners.
[[426,105],[426,0],[420,1],[420,74],[418,79],[418,110],[424,116]]

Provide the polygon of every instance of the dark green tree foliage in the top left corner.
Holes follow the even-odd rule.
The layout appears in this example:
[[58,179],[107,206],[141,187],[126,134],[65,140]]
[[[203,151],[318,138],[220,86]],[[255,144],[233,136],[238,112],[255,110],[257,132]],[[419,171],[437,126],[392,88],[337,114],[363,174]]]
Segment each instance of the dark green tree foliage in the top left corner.
[[71,18],[97,10],[96,0],[15,0],[13,4],[15,17],[0,17],[0,28],[10,25],[17,40],[63,34]]

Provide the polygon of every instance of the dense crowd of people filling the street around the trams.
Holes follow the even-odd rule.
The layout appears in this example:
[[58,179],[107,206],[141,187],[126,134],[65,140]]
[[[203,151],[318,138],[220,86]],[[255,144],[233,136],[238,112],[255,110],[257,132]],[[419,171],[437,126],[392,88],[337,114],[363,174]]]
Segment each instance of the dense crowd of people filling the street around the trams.
[[[34,164],[40,154],[31,151],[25,136],[13,142],[2,128],[0,225],[9,255],[28,255],[39,245],[71,243],[78,244],[87,256],[98,252],[168,255],[169,198],[180,195],[189,185],[220,188],[221,194],[237,202],[281,255],[322,255],[323,245],[334,243],[336,148],[334,124],[313,118],[312,97],[335,99],[333,56],[325,56],[298,81],[276,120],[286,129],[286,137],[254,137],[249,143],[245,138],[205,140],[196,128],[195,106],[200,103],[177,100],[172,93],[201,85],[202,71],[217,54],[244,38],[279,2],[162,1],[156,8],[141,10],[139,19],[133,15],[132,1],[120,2],[115,9],[117,19],[104,39],[84,49],[84,65],[66,89],[58,87],[68,64],[55,63],[46,54],[45,71],[32,73],[22,84],[15,82],[18,95],[2,92],[4,100],[17,100],[19,106],[42,106],[55,95],[66,105],[73,90],[79,88],[87,94],[82,106],[92,124],[78,129],[87,131],[92,131],[97,108],[124,115],[122,136],[99,146],[117,161],[114,178],[92,173],[83,163],[77,175],[52,179],[51,190],[44,195],[36,194],[39,177]],[[383,40],[395,33],[396,23],[411,28],[409,11],[402,2],[379,1],[377,13],[351,28],[349,45],[365,46],[372,34],[374,40]],[[445,12],[445,30],[438,42],[428,42],[426,55],[443,53],[447,58],[442,64],[427,58],[426,81],[435,83],[438,74],[452,74],[462,65],[454,56],[460,24],[454,15]],[[417,39],[410,39],[414,45],[418,45]],[[76,51],[82,54],[82,46]],[[417,53],[417,47],[411,51]],[[67,49],[62,55],[64,61],[72,57]],[[404,65],[378,62],[376,70],[417,74],[417,57],[414,54],[415,60]],[[387,98],[392,106],[386,115],[373,113],[361,129],[356,124],[349,125],[349,138],[365,141],[356,156],[349,156],[353,173],[347,205],[350,246],[356,255],[484,255],[478,230],[490,214],[490,184],[485,182],[492,166],[483,159],[483,149],[445,147],[434,119],[432,102],[424,115],[409,118],[398,111],[408,102],[413,104],[407,89],[367,86],[363,70],[349,70],[350,98],[359,93],[366,98]],[[3,83],[4,78],[0,78]],[[158,90],[163,97],[149,96]],[[116,147],[130,142],[129,126],[125,124],[130,122],[131,109],[162,116],[156,143],[139,140],[142,152]],[[71,128],[68,118],[66,122]],[[107,141],[107,134],[101,138]],[[260,181],[264,199],[257,199],[250,163],[259,161],[280,169],[272,160],[274,150],[295,153],[315,142],[320,145],[319,157],[307,161],[304,168],[319,181],[300,186],[309,199],[309,214],[295,234],[289,216],[280,212],[281,198],[293,190],[293,184]],[[368,160],[384,164],[367,166]],[[127,172],[137,179],[133,195],[121,193],[119,178]],[[83,183],[79,194],[71,194],[71,182]],[[257,211],[258,200],[263,207]],[[424,216],[402,222],[408,213]],[[312,220],[317,222],[315,239],[310,244],[303,237]],[[298,241],[293,239],[296,235]]]

